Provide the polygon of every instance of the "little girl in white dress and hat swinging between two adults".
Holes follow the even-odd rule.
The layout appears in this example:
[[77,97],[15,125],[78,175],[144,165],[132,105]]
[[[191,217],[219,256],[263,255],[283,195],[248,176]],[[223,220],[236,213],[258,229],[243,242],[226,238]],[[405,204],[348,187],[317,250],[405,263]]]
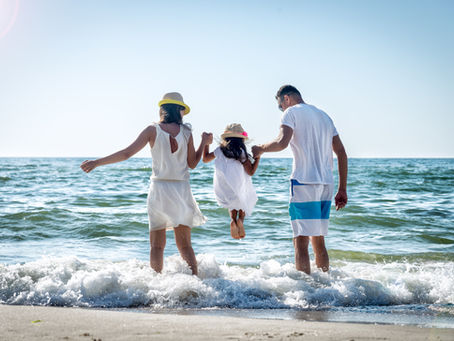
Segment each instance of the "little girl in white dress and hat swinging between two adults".
[[[240,124],[229,124],[221,135],[221,144],[213,152],[209,145],[203,150],[203,162],[215,161],[214,194],[221,207],[230,212],[230,234],[235,239],[244,238],[244,217],[249,216],[257,202],[257,194],[251,176],[259,165],[260,158],[248,154],[244,141],[247,133]],[[212,138],[209,140],[211,144]],[[251,161],[252,159],[252,161]]]

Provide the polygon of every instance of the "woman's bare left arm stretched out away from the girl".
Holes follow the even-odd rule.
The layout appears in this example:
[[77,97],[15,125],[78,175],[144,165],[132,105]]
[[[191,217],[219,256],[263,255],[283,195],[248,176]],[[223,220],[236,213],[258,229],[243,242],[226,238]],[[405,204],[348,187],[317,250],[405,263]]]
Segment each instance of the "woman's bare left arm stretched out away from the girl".
[[147,143],[150,144],[150,147],[153,147],[155,139],[156,128],[154,126],[148,126],[140,133],[137,139],[125,149],[97,160],[85,160],[80,165],[80,168],[82,168],[84,172],[89,173],[96,167],[127,160],[131,156],[137,154],[140,150],[142,150],[142,148],[145,147]]

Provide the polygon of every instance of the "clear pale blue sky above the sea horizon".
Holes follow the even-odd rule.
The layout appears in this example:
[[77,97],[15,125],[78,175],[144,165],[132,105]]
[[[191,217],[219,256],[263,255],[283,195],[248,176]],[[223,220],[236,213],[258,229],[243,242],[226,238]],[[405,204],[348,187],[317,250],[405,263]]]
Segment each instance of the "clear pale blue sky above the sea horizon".
[[229,123],[265,143],[283,84],[349,157],[454,157],[452,18],[449,0],[0,0],[0,157],[111,154],[172,91],[196,143]]

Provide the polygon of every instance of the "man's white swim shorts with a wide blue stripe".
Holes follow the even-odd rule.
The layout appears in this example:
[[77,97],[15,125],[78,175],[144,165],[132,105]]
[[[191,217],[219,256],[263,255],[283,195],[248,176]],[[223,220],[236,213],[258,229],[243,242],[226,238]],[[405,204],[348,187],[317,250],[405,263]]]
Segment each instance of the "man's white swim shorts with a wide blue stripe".
[[302,184],[291,180],[289,214],[293,237],[328,235],[333,191],[333,184]]

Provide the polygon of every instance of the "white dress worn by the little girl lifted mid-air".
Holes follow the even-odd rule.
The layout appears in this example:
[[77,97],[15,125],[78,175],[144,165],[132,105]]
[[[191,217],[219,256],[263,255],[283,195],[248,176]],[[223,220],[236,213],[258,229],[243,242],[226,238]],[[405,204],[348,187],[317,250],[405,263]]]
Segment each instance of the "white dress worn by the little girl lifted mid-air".
[[243,152],[241,162],[227,158],[221,148],[214,150],[214,194],[219,206],[229,210],[243,210],[252,214],[257,203],[257,194],[252,185],[252,177],[246,173],[241,162],[247,156]]

